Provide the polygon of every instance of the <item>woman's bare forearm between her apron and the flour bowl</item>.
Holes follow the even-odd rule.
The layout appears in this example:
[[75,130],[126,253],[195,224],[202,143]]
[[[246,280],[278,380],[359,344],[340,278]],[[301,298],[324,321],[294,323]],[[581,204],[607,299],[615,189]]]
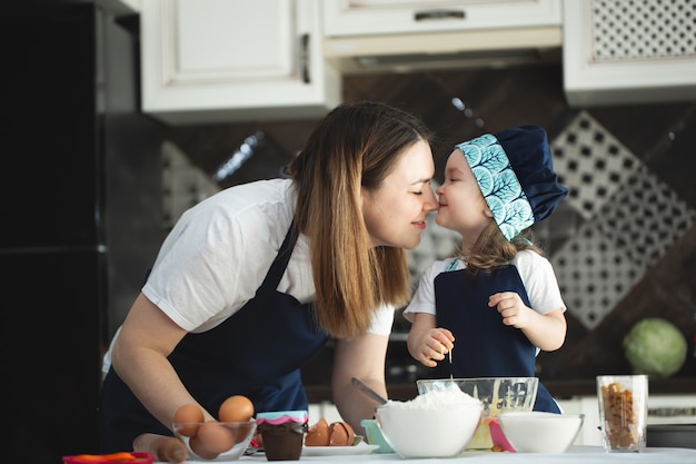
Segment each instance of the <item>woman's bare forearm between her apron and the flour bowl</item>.
[[341,417],[358,435],[365,436],[360,421],[372,418],[378,403],[352,386],[350,381],[358,377],[387,398],[385,368],[388,343],[389,335],[377,334],[336,340],[331,395]]

